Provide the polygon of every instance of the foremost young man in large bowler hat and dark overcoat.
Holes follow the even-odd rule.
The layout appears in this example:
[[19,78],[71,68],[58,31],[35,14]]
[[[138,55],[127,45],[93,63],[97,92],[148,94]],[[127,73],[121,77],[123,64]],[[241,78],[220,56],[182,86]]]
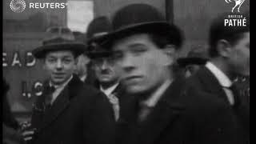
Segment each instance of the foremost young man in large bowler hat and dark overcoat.
[[146,4],[123,7],[112,24],[114,30],[96,41],[122,68],[127,95],[120,101],[117,143],[175,143],[172,126],[182,112],[176,101],[182,81],[174,80],[172,66],[182,46],[181,31]]

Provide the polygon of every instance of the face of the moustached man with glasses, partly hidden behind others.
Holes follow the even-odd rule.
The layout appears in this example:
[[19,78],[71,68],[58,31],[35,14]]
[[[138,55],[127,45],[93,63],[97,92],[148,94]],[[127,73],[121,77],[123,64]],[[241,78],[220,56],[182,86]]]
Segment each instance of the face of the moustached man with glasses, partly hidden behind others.
[[95,58],[94,70],[100,83],[117,82],[120,77],[120,68],[114,64],[113,58]]

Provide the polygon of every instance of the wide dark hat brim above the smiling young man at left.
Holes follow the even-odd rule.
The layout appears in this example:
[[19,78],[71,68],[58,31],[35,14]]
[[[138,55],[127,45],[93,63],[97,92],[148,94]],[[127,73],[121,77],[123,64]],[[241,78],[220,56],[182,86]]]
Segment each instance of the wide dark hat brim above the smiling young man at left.
[[39,46],[38,48],[32,51],[32,54],[35,58],[45,58],[46,54],[50,51],[59,51],[59,50],[70,50],[74,52],[75,56],[82,54],[86,51],[86,45],[82,43],[61,43],[61,44],[52,44],[46,46]]

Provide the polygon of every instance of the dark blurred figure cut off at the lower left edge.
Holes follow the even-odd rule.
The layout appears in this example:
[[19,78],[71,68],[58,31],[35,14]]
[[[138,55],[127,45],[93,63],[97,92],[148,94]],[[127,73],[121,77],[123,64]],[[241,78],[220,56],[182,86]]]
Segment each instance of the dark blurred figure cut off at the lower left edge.
[[19,125],[14,118],[10,105],[7,99],[7,92],[10,90],[10,86],[6,80],[2,78],[2,143],[3,144],[22,144],[22,136],[18,132]]

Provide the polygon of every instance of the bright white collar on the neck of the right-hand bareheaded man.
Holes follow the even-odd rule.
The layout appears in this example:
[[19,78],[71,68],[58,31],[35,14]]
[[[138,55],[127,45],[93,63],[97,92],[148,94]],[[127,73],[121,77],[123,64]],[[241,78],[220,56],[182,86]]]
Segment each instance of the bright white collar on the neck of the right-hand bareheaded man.
[[232,85],[232,81],[230,80],[230,78],[228,78],[226,76],[226,74],[224,74],[222,72],[222,70],[220,70],[217,66],[215,66],[212,62],[207,62],[206,63],[206,68],[209,69],[211,71],[212,74],[214,74],[214,76],[218,79],[218,82],[224,86],[224,87],[230,87]]

